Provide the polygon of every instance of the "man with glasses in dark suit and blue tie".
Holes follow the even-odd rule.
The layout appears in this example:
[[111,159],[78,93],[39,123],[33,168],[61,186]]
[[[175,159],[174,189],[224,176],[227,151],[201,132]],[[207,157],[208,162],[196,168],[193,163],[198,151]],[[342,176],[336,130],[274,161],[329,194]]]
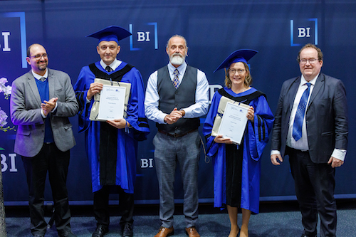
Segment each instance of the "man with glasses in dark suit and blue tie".
[[335,236],[335,167],[347,148],[347,101],[341,80],[320,73],[323,53],[307,44],[298,54],[301,76],[286,80],[278,100],[271,162],[289,156],[304,231],[302,236]]

